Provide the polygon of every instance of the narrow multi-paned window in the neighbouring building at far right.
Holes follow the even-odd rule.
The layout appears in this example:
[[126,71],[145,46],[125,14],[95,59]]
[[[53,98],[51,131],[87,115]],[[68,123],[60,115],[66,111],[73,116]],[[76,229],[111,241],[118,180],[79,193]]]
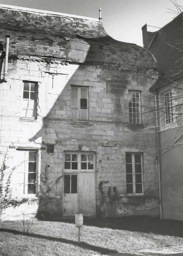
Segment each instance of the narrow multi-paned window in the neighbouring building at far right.
[[171,91],[164,94],[164,101],[165,101],[165,121],[166,121],[166,124],[171,124],[174,121]]

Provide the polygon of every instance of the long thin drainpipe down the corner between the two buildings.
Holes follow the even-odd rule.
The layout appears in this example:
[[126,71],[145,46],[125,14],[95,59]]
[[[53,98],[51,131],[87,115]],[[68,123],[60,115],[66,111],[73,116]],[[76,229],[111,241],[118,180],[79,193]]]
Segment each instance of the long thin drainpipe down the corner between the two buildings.
[[160,175],[160,150],[159,150],[159,133],[158,133],[158,120],[157,120],[157,100],[156,92],[155,94],[155,108],[156,108],[156,141],[157,141],[157,169],[158,169],[158,182],[159,182],[159,207],[160,207],[160,219],[163,219],[163,210],[162,210],[162,197],[161,197],[161,175]]

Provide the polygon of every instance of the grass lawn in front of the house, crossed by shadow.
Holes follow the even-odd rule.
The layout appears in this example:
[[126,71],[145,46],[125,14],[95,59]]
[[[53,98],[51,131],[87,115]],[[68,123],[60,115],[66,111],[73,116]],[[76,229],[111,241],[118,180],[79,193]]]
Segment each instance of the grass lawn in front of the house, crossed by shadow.
[[74,220],[34,221],[23,233],[20,221],[0,223],[0,255],[87,256],[183,244],[183,222],[153,217],[84,220],[81,243]]

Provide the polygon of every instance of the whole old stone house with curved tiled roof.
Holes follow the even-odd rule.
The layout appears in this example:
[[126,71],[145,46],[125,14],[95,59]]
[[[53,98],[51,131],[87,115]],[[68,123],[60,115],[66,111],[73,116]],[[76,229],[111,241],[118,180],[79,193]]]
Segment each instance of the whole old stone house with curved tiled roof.
[[13,195],[37,201],[6,217],[159,215],[152,55],[97,19],[2,4],[0,14],[0,148],[7,175],[16,166]]

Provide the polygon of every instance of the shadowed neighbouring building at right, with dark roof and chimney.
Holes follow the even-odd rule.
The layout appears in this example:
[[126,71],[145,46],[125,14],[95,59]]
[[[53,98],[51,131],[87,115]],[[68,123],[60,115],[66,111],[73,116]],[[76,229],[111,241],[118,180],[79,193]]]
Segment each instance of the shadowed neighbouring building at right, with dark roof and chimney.
[[157,133],[164,219],[183,220],[183,16],[157,31],[142,27],[144,46],[157,60]]

